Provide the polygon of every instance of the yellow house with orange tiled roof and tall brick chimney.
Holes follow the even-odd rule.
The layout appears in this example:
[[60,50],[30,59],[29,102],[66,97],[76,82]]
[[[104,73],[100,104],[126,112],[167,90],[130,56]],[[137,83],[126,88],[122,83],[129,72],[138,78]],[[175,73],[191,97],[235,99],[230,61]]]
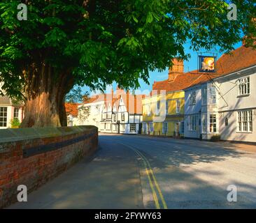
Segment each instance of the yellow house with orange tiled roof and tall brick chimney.
[[197,78],[197,72],[184,73],[183,61],[173,60],[169,78],[155,82],[143,100],[143,134],[184,136],[185,91]]

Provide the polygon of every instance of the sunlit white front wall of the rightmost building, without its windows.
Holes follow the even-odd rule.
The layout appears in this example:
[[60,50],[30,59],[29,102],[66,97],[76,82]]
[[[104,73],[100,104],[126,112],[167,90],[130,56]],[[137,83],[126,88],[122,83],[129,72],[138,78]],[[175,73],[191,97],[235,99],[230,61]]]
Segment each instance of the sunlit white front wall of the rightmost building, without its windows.
[[[250,77],[250,95],[239,96],[238,79]],[[256,68],[240,72],[218,79],[220,98],[218,110],[220,112],[220,135],[221,139],[232,141],[256,142]],[[245,109],[253,110],[253,132],[239,132],[237,116],[239,111]],[[228,125],[225,125],[225,118],[228,118]]]

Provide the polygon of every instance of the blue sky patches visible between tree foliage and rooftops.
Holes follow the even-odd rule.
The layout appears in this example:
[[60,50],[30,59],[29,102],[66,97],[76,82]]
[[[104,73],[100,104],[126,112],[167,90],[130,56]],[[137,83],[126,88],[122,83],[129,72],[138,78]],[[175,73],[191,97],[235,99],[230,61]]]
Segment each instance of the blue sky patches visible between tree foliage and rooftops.
[[[235,49],[237,49],[238,47],[241,47],[242,43],[238,43],[234,46]],[[222,56],[222,54],[220,54],[219,52],[219,47],[215,47],[214,49],[211,49],[210,52],[206,52],[205,49],[200,49],[199,52],[194,52],[192,49],[190,49],[190,44],[187,43],[187,45],[185,45],[185,52],[190,54],[190,60],[189,61],[184,61],[184,72],[188,72],[188,71],[192,71],[192,70],[197,70],[197,58],[198,58],[198,53],[205,53],[204,55],[210,55],[210,53],[214,53],[217,56],[217,59],[220,58],[220,56]],[[136,94],[145,94],[148,95],[150,93],[150,91],[152,90],[152,84],[154,84],[154,82],[159,82],[159,81],[163,81],[165,79],[168,78],[168,72],[169,72],[169,68],[166,68],[166,70],[164,70],[164,72],[158,72],[157,70],[155,70],[154,72],[150,72],[150,78],[148,79],[148,81],[150,82],[150,85],[145,84],[145,82],[143,82],[143,80],[140,81],[141,87],[139,89],[136,89],[135,93]],[[115,91],[117,87],[116,83],[113,83],[113,89]],[[110,93],[112,89],[112,86],[108,86],[106,89],[106,93]],[[93,92],[90,91],[89,88],[84,87],[83,91],[88,91],[90,93],[90,95],[94,95],[96,93],[99,93],[99,91]]]

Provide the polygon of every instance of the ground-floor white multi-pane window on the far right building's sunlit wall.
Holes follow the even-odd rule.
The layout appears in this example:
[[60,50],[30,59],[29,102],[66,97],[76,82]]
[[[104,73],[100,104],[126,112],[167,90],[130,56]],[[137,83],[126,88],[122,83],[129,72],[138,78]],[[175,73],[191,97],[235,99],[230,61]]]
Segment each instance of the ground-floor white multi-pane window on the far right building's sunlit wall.
[[253,132],[253,111],[238,112],[238,132]]

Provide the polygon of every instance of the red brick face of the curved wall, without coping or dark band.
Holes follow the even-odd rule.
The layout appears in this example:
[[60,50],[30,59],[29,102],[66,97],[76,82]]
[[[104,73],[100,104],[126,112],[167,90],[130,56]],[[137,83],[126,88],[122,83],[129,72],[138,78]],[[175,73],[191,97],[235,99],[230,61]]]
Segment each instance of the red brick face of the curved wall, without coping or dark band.
[[[88,134],[88,138],[81,140],[85,134]],[[24,149],[29,150],[42,145],[47,147],[71,139],[80,141],[53,151],[24,157]],[[18,185],[27,185],[28,192],[35,190],[81,158],[92,154],[97,145],[97,128],[61,134],[57,137],[0,143],[0,208],[17,202]]]

